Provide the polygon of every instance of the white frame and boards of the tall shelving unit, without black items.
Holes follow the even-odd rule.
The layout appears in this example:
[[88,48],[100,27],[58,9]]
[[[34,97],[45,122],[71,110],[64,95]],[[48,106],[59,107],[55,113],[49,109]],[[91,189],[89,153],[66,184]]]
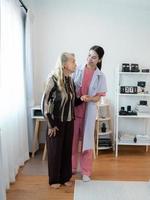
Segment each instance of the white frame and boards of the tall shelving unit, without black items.
[[[146,82],[147,93],[120,93],[121,86],[137,86],[138,81]],[[115,123],[115,154],[118,156],[119,145],[145,146],[150,145],[150,113],[138,112],[137,115],[120,115],[121,107],[131,106],[135,110],[140,100],[147,101],[150,106],[150,73],[117,72],[117,111]]]

